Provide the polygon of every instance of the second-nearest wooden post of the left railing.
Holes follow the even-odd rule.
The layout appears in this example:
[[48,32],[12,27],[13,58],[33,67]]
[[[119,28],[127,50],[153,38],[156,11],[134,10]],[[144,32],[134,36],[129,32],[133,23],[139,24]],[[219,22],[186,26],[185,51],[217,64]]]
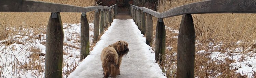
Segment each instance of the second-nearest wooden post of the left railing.
[[90,54],[90,27],[86,13],[81,14],[81,42],[80,42],[80,61]]

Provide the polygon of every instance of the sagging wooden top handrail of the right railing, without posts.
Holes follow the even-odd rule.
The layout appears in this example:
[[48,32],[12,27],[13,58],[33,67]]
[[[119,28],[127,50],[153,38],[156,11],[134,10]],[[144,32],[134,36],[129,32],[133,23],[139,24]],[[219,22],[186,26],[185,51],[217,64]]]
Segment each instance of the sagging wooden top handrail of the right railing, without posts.
[[132,6],[157,18],[168,18],[182,14],[256,13],[256,0],[208,0],[175,7],[162,13],[145,7]]

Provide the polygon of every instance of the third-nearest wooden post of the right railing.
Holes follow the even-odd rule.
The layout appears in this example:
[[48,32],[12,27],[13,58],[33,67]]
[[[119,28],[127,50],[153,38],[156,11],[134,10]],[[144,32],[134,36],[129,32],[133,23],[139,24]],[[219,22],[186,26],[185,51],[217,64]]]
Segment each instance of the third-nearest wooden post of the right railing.
[[152,47],[153,42],[153,20],[150,14],[147,14],[147,26],[146,26],[146,44]]

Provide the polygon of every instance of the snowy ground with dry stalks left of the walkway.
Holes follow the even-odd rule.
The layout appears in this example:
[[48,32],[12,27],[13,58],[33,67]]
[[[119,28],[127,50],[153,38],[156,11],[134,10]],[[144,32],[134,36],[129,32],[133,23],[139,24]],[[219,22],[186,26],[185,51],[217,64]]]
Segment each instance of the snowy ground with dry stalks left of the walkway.
[[[93,28],[93,23],[90,23],[90,28]],[[63,30],[63,77],[66,78],[70,74],[69,71],[79,63],[80,24],[63,24]],[[7,40],[0,41],[0,76],[2,78],[44,77],[45,56],[43,55],[46,33],[35,34],[30,29],[22,31],[27,33],[17,33]],[[90,42],[92,37],[93,32],[90,31]]]

